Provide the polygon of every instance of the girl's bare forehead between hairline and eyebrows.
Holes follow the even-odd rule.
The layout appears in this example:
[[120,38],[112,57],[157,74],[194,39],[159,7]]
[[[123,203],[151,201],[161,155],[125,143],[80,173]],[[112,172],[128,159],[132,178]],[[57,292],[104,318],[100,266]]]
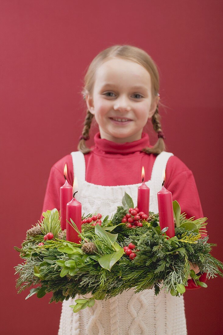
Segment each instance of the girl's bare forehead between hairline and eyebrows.
[[95,73],[95,85],[122,85],[134,82],[135,86],[151,87],[149,72],[140,64],[120,58],[110,59],[100,65]]

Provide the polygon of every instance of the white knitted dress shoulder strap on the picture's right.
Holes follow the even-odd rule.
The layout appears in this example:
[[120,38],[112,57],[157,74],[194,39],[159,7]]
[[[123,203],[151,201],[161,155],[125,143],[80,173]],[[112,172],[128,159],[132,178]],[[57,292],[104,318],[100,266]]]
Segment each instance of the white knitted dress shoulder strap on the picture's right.
[[167,161],[171,156],[173,156],[172,152],[162,151],[159,155],[157,155],[156,160],[153,164],[151,182],[154,184],[155,189],[158,190],[157,192],[159,192],[162,188],[163,170],[166,169]]

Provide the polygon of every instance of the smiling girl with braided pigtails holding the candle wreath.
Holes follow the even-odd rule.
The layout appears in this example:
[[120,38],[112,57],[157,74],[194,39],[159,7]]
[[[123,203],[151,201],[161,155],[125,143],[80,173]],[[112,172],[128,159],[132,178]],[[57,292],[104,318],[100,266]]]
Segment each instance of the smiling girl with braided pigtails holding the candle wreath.
[[[158,110],[159,73],[152,58],[133,46],[109,47],[90,64],[82,93],[87,115],[78,151],[53,165],[43,211],[59,210],[60,186],[64,184],[63,169],[67,163],[68,182],[72,185],[77,176],[77,200],[85,213],[111,215],[121,204],[125,191],[136,204],[144,166],[150,188],[150,211],[158,213],[157,192],[165,169],[165,187],[179,202],[181,211],[187,217],[203,217],[192,172],[173,153],[165,151]],[[94,136],[94,146],[88,148],[86,141],[93,118],[99,132]],[[158,134],[154,146],[143,132],[148,120],[152,120]],[[199,272],[198,267],[194,270]],[[205,279],[203,274],[200,280]],[[187,288],[195,287],[188,279]],[[71,298],[62,304],[59,335],[186,334],[183,296],[177,298],[161,291],[156,297],[153,289],[137,294],[129,289],[106,301],[97,300],[94,307],[78,313],[69,307],[73,304]]]

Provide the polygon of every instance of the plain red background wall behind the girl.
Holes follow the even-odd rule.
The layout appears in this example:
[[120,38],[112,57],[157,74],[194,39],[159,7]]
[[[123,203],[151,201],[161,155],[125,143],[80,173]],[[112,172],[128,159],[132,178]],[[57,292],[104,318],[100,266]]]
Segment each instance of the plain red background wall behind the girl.
[[[13,246],[40,218],[51,166],[76,150],[85,69],[113,44],[138,46],[156,61],[167,151],[193,171],[218,244],[213,255],[222,259],[222,1],[1,0],[0,7],[2,333],[57,334],[61,304],[17,295]],[[157,139],[153,130],[150,137]],[[221,286],[217,278],[185,293],[189,335],[222,333]]]

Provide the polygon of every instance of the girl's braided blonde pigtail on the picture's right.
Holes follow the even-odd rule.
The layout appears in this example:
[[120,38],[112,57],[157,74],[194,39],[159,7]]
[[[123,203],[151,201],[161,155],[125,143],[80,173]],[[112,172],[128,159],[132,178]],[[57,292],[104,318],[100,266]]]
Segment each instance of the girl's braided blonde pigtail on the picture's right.
[[146,152],[146,153],[156,153],[159,154],[162,151],[166,150],[166,146],[165,146],[165,142],[164,139],[166,138],[162,132],[162,128],[161,128],[161,123],[160,123],[160,119],[161,116],[159,114],[159,108],[157,106],[156,111],[152,117],[152,124],[153,124],[153,128],[154,130],[158,133],[158,141],[156,142],[156,144],[149,148],[144,148],[142,149],[142,151]]

